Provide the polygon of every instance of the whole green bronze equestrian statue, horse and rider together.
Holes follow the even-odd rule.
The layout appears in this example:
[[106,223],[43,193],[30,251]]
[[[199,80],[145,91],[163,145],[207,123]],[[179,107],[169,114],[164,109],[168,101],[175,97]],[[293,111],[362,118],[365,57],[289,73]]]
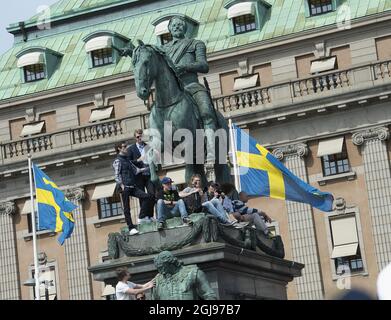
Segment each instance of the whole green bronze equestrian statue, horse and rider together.
[[[231,176],[227,166],[228,124],[223,115],[214,109],[210,92],[198,81],[198,73],[209,72],[206,59],[206,46],[200,40],[185,37],[187,23],[179,16],[170,20],[169,30],[173,40],[163,46],[145,45],[139,41],[138,47],[130,43],[129,48],[118,49],[121,55],[132,57],[136,91],[144,101],[150,97],[153,84],[156,88],[155,102],[149,116],[151,149],[161,154],[171,154],[170,149],[180,146],[174,138],[176,132],[187,130],[192,139],[185,138],[186,181],[193,174],[200,174],[204,183],[208,174],[213,173],[211,180],[220,183],[230,182]],[[166,138],[167,124],[172,128],[170,137]],[[203,129],[200,130],[200,129]],[[201,143],[198,132],[202,131],[200,140],[206,140],[206,162],[199,155]],[[180,135],[180,134],[179,134]],[[216,143],[215,139],[219,140]],[[169,139],[170,141],[165,141]],[[163,141],[164,140],[164,141]],[[179,148],[180,149],[180,148]],[[155,172],[155,153],[148,154],[151,166],[151,180],[158,180]],[[170,160],[167,160],[170,163]],[[210,176],[209,176],[210,177]]]

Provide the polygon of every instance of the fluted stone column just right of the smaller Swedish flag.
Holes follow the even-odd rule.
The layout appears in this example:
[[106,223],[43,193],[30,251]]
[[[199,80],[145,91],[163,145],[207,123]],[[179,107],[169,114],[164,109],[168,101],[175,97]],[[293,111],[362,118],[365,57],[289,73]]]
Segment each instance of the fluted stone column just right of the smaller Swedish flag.
[[69,189],[67,198],[78,206],[73,211],[75,228],[72,236],[65,242],[65,258],[68,274],[69,300],[91,300],[91,278],[89,266],[87,234],[82,200],[85,197],[82,188]]

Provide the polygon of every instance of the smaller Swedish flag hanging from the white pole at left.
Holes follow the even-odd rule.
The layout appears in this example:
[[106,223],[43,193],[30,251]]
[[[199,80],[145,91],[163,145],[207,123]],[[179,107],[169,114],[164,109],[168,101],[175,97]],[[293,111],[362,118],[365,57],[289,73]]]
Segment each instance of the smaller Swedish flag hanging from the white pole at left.
[[63,245],[75,225],[72,211],[77,208],[58,186],[35,164],[33,164],[36,199],[39,213],[39,229],[61,232],[58,242]]

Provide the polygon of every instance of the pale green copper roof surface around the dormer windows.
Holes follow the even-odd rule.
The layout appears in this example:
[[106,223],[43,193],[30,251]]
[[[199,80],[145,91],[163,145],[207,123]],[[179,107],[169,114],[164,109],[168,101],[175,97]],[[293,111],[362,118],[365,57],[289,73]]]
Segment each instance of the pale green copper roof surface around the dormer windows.
[[[135,1],[135,0],[132,0]],[[115,0],[62,0],[52,6],[55,13],[66,14],[70,10],[89,10],[96,6],[125,2]],[[156,1],[158,2],[158,1]],[[142,3],[142,1],[140,1]],[[225,0],[199,0],[178,3],[175,7],[161,9],[160,12],[143,12],[113,21],[89,26],[84,24],[76,30],[62,31],[60,34],[47,35],[31,39],[26,43],[14,45],[0,57],[0,101],[20,97],[40,91],[64,87],[84,81],[95,80],[112,75],[129,72],[131,59],[122,58],[117,64],[89,69],[88,58],[84,49],[83,38],[98,30],[110,30],[130,39],[142,39],[145,43],[156,43],[152,22],[160,16],[169,13],[182,13],[200,22],[197,38],[206,42],[208,52],[218,52],[237,46],[269,40],[290,35],[326,25],[337,21],[337,13],[305,18],[304,1],[299,0],[268,0],[272,5],[270,17],[261,30],[230,36]],[[370,14],[390,11],[391,1],[388,0],[346,0],[343,2],[351,10],[351,18],[355,19]],[[17,68],[16,54],[29,47],[46,47],[63,54],[57,70],[50,77],[32,83],[22,83],[20,70]]]

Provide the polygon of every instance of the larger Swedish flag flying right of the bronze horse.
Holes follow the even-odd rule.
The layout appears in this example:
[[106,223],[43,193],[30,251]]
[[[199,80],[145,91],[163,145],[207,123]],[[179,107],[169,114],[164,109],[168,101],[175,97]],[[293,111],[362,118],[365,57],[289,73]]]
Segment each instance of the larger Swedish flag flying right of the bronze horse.
[[308,203],[332,211],[334,197],[296,177],[254,138],[233,125],[241,190],[248,195]]

